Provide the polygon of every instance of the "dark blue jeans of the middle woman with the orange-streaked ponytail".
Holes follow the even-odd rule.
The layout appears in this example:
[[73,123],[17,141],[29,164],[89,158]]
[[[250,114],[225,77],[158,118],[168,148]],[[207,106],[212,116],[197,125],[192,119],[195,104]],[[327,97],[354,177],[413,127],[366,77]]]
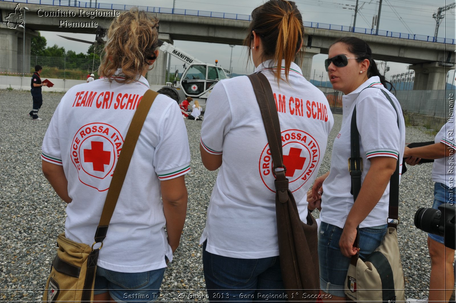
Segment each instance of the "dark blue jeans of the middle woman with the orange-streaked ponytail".
[[285,301],[279,256],[240,259],[206,251],[202,261],[210,302]]

